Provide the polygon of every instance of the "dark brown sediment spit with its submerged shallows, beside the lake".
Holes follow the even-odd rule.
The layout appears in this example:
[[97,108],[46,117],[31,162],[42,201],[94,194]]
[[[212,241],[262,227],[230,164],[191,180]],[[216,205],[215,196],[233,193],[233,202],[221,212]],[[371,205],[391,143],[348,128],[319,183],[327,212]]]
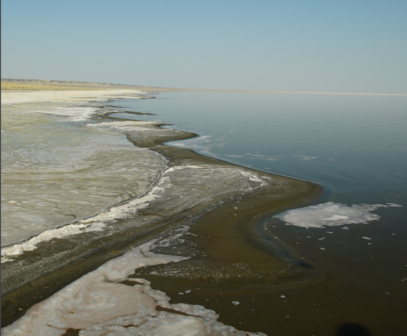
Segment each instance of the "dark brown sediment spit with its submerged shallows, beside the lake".
[[[101,121],[111,119],[102,117]],[[196,135],[150,124],[109,122],[95,126],[117,129],[135,146],[167,158],[170,169],[158,181],[159,197],[141,210],[107,221],[104,231],[43,242],[2,264],[2,327],[131,246],[174,233],[184,225],[190,226],[191,234],[164,253],[191,256],[191,260],[156,267],[157,275],[149,275],[153,286],[165,283],[171,294],[180,286],[205,287],[203,295],[209,296],[229,288],[232,294],[246,293],[240,299],[244,301],[255,292],[270,291],[273,285],[319,276],[318,271],[302,267],[289,252],[262,237],[255,224],[270,214],[315,202],[322,192],[320,185],[164,146],[165,141]],[[181,278],[166,275],[174,269],[180,275],[195,272]]]

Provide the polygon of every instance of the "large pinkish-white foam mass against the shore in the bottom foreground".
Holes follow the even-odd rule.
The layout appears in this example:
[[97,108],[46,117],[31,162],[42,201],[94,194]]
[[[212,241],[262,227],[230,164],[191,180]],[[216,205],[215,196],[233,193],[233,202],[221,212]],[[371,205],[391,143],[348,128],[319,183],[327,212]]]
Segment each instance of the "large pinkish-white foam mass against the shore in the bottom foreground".
[[[226,326],[217,321],[218,314],[202,305],[172,305],[171,298],[152,289],[149,281],[130,278],[141,267],[189,259],[151,252],[156,241],[137,246],[82,276],[32,306],[23,317],[3,328],[1,334],[62,336],[68,329],[79,329],[81,336],[265,335]],[[125,280],[135,284],[120,283]],[[157,306],[173,312],[157,311]]]

